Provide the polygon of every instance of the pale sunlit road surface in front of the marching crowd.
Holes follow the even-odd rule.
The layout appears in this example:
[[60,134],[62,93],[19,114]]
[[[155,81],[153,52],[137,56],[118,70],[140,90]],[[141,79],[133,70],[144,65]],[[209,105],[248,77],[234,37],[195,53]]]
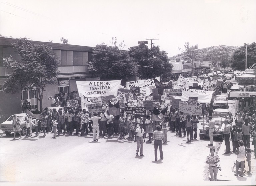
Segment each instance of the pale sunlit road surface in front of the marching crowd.
[[[231,112],[234,101],[229,101]],[[201,122],[200,122],[201,123]],[[200,127],[200,124],[198,124]],[[209,138],[186,143],[186,137],[167,134],[164,159],[155,162],[154,144],[144,143],[144,157],[136,156],[136,143],[128,139],[60,135],[0,138],[1,182],[85,182],[87,185],[208,185]],[[148,140],[148,138],[146,138]],[[221,145],[214,138],[218,150]],[[83,183],[84,184],[84,183]]]

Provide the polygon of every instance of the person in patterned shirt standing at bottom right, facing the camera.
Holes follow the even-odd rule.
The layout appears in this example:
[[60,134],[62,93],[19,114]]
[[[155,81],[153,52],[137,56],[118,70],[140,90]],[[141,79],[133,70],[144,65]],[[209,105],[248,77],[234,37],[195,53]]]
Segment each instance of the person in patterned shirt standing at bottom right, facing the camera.
[[210,148],[211,154],[209,154],[206,158],[206,163],[209,164],[209,172],[211,175],[211,181],[217,181],[217,174],[218,174],[218,166],[217,163],[220,162],[220,157],[215,154],[215,148]]

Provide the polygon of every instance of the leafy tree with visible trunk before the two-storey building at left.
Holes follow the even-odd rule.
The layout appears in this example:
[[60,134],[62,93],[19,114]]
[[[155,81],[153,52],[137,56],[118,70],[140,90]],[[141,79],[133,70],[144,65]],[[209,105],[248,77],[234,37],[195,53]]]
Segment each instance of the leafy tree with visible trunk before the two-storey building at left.
[[16,47],[21,60],[15,61],[12,57],[3,59],[5,66],[12,71],[0,86],[0,91],[13,94],[31,91],[35,94],[36,90],[35,97],[40,101],[42,111],[43,92],[48,85],[56,83],[59,60],[51,47],[33,44],[27,38],[19,39],[13,46]]

